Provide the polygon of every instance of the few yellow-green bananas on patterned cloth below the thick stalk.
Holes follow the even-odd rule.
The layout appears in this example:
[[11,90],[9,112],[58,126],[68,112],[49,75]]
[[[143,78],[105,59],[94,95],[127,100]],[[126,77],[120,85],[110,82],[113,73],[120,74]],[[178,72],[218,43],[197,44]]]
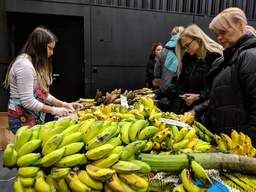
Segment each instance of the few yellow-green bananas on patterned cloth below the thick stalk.
[[[198,187],[194,184],[192,176],[188,169],[183,169],[180,174],[182,184],[173,188],[172,192],[188,191],[188,192],[207,192],[207,188],[212,187],[212,181],[205,172],[204,168],[196,163],[196,161],[191,161],[191,168],[196,175],[197,179],[203,184],[204,188]],[[192,171],[191,170],[191,171]]]

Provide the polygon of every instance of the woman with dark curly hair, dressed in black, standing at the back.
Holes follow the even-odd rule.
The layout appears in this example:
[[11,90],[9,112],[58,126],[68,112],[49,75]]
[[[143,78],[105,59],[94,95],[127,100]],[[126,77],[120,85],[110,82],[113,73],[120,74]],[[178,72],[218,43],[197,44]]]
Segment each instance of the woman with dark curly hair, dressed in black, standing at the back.
[[151,54],[149,57],[148,65],[147,65],[147,77],[146,77],[146,87],[149,89],[155,90],[159,87],[159,80],[154,77],[154,68],[156,65],[156,61],[158,59],[159,53],[163,50],[163,44],[155,43],[151,48]]

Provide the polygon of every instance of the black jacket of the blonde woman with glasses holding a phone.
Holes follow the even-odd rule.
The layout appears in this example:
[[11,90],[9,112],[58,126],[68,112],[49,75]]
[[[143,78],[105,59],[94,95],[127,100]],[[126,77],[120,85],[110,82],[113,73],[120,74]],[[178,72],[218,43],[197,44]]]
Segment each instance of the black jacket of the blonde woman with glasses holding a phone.
[[[177,76],[174,76],[172,84],[154,91],[158,95],[157,99],[171,97],[170,110],[176,114],[188,112],[193,109],[194,105],[207,100],[209,94],[204,90],[204,76],[212,62],[219,57],[221,57],[219,53],[207,52],[203,61],[197,60],[196,55],[190,56],[188,53],[185,53],[181,60],[183,67],[179,81],[177,81]],[[200,100],[188,106],[185,100],[178,97],[185,93],[199,93]]]

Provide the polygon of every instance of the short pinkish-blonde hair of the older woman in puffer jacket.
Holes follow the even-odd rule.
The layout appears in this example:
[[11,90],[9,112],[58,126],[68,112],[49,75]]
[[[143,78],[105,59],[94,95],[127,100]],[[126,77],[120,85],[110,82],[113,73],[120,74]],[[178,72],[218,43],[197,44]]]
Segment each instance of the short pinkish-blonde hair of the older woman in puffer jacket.
[[[240,20],[244,21],[244,25],[247,25],[247,19],[244,11],[237,7],[229,7],[220,12],[213,18],[209,25],[210,29],[220,29],[227,31],[229,28],[236,30],[234,24],[237,24]],[[245,27],[244,27],[245,32]]]

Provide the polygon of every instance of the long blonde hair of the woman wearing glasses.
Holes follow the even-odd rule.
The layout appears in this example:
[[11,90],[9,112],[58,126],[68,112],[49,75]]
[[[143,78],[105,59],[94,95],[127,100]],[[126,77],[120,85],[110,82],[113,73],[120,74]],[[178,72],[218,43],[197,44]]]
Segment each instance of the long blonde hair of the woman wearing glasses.
[[177,77],[179,79],[179,76],[182,71],[182,62],[181,59],[184,56],[185,52],[181,49],[181,39],[184,37],[190,37],[192,39],[197,38],[200,39],[201,41],[199,42],[199,46],[201,48],[201,53],[202,53],[202,59],[204,60],[205,55],[207,52],[216,52],[219,53],[221,56],[223,56],[223,47],[213,41],[209,36],[207,36],[204,31],[199,28],[196,24],[192,24],[185,28],[185,30],[180,34],[179,38],[177,39],[177,44],[176,44],[176,55],[178,58],[178,69],[177,69]]

